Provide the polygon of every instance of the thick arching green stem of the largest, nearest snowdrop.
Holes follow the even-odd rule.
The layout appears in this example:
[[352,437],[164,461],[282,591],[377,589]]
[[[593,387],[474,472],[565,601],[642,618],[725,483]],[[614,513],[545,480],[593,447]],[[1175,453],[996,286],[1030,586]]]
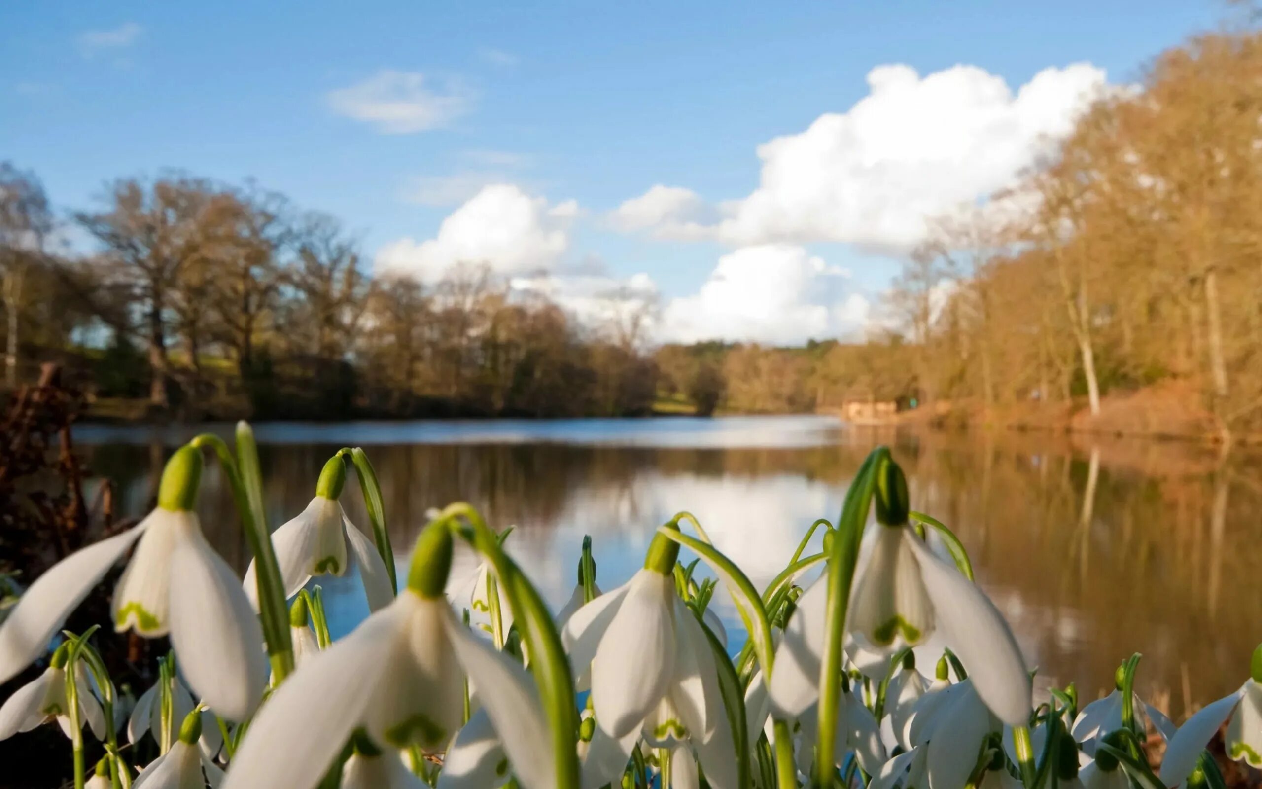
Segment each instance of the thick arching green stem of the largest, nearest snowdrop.
[[530,672],[539,687],[540,699],[553,733],[553,759],[557,768],[557,789],[578,789],[578,703],[574,701],[574,679],[569,660],[551,612],[525,574],[509,558],[498,539],[472,506],[458,502],[443,510],[442,518],[463,519],[472,533],[458,530],[495,569],[504,586],[512,616],[530,645]]

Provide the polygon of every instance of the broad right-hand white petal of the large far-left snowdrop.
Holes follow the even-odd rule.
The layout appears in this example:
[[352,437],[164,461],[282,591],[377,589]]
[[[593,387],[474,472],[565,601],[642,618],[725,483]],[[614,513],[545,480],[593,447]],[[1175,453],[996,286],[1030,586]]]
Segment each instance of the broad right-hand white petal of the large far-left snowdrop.
[[262,698],[262,629],[232,569],[201,530],[172,557],[170,641],[180,672],[220,717],[244,721]]

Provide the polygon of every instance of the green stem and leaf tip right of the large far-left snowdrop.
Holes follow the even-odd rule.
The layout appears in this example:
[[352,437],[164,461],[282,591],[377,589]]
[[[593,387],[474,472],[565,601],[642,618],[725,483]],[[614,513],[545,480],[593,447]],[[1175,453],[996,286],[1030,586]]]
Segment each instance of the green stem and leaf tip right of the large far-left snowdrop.
[[[259,456],[254,449],[254,434],[250,432],[250,425],[244,422],[237,425],[239,446],[242,441],[246,446],[241,447],[241,454],[246,458],[247,465],[257,471]],[[223,468],[223,476],[227,477],[232,501],[241,516],[246,544],[254,555],[262,635],[268,644],[271,674],[276,684],[280,684],[294,670],[294,646],[289,640],[289,606],[285,605],[285,587],[280,578],[280,566],[276,563],[276,554],[271,547],[268,523],[260,518],[261,499],[256,507],[250,494],[252,483],[247,485],[242,478],[237,461],[222,438],[213,433],[202,433],[189,443],[197,448],[209,447],[213,449]]]

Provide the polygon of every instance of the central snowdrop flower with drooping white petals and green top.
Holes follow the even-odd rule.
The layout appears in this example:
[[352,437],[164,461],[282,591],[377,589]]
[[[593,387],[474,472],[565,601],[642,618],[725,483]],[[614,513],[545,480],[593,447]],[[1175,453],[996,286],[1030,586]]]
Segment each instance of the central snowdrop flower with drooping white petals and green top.
[[687,742],[716,789],[734,783],[736,754],[709,639],[675,593],[679,545],[656,535],[644,568],[579,608],[562,641],[575,674],[591,667],[597,726],[652,747]]

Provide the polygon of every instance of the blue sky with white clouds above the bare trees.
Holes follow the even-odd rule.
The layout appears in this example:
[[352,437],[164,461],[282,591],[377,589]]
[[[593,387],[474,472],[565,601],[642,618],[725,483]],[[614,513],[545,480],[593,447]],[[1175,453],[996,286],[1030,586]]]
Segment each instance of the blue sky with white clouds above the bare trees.
[[[0,158],[67,208],[168,167],[255,178],[341,217],[381,268],[432,279],[485,258],[596,314],[631,282],[659,294],[668,336],[793,341],[863,319],[854,297],[875,304],[914,241],[909,206],[982,197],[1035,131],[1080,110],[1070,92],[1135,80],[1225,14],[1196,0],[8,4]],[[1074,63],[1095,71],[1016,98]],[[916,73],[888,72],[868,104],[902,109],[861,122],[881,64]],[[382,104],[403,120],[363,120]],[[805,136],[825,114],[837,125]],[[939,150],[935,128],[960,117],[976,122]],[[769,186],[757,151],[781,135],[801,138]],[[439,234],[493,183],[512,189]],[[678,192],[611,213],[655,184]]]

